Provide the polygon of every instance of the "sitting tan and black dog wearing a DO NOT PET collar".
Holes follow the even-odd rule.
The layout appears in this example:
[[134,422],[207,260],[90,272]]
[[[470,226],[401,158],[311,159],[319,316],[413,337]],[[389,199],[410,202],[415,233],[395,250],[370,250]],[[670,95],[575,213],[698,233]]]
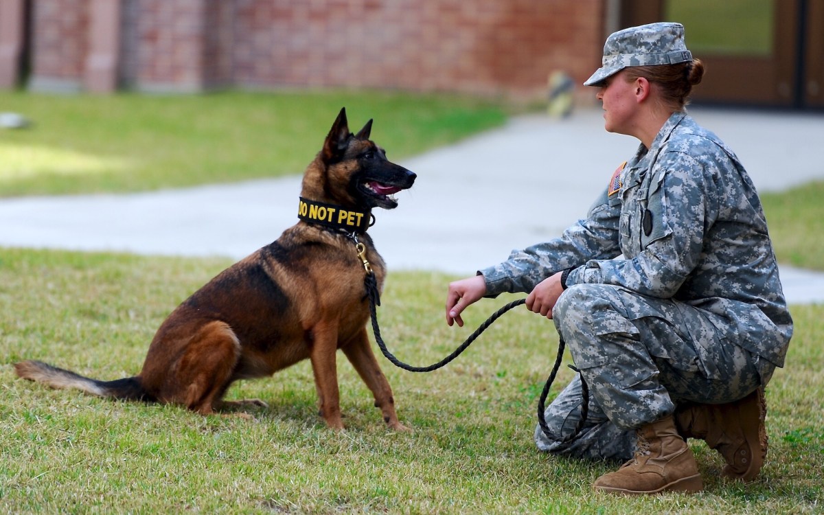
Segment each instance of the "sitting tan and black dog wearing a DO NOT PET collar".
[[[307,166],[301,218],[277,241],[224,270],[166,318],[135,377],[98,381],[39,361],[16,363],[17,375],[55,388],[124,400],[185,405],[212,414],[223,405],[260,405],[260,400],[224,401],[232,382],[265,377],[302,359],[311,360],[320,414],[330,428],[343,428],[335,357],[344,351],[375,397],[386,424],[404,430],[391,387],[369,345],[365,274],[382,289],[386,267],[365,231],[372,208],[396,208],[392,194],[410,188],[415,175],[389,162],[369,139],[372,119],[349,132],[340,110],[321,152]],[[320,206],[320,207],[318,207]],[[344,228],[316,223],[321,213],[347,213]],[[357,217],[355,215],[358,215]],[[365,220],[361,220],[365,218]],[[346,222],[363,222],[348,232]],[[356,242],[363,246],[357,246]],[[360,255],[358,255],[360,251]],[[250,418],[248,414],[239,413]]]

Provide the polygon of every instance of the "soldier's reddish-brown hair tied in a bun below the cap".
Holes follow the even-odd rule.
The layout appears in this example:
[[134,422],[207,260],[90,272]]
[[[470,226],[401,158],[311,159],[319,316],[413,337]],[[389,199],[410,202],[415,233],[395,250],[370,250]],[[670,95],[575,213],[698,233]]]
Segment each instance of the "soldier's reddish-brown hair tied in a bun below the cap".
[[656,64],[653,66],[630,66],[625,68],[625,78],[632,82],[644,77],[660,87],[662,103],[674,111],[684,110],[690,103],[692,87],[704,77],[704,63],[693,59],[686,63]]

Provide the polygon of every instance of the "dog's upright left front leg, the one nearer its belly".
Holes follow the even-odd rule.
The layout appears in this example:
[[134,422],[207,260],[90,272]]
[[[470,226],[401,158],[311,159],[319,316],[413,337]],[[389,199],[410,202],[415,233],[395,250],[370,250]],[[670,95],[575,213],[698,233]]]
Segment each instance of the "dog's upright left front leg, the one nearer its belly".
[[320,415],[330,428],[343,429],[344,423],[340,419],[338,372],[335,363],[335,353],[338,350],[337,321],[320,322],[311,333],[309,359],[312,372],[315,374]]

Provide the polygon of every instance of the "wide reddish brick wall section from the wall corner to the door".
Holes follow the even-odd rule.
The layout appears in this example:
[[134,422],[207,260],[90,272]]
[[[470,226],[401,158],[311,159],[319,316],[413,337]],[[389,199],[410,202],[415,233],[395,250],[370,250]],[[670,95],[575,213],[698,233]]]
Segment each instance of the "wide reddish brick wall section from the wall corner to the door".
[[234,78],[536,96],[600,61],[602,0],[236,0]]

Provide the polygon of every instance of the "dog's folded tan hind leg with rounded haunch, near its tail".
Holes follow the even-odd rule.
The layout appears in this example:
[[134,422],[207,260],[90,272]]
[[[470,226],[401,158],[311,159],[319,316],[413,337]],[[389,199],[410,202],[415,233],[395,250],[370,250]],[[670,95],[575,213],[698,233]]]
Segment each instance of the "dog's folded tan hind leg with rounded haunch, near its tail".
[[232,384],[240,355],[241,343],[232,328],[221,321],[209,322],[194,335],[180,357],[174,398],[164,397],[199,414],[214,413]]

